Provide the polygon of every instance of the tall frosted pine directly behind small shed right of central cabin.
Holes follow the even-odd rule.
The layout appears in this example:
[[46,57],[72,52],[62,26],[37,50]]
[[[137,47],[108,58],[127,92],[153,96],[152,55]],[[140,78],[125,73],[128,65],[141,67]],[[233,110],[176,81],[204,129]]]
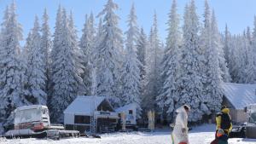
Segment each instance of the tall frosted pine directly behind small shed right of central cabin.
[[126,49],[125,60],[122,67],[122,85],[123,94],[121,96],[122,106],[136,103],[137,118],[141,114],[141,97],[140,97],[140,61],[137,59],[136,42],[138,37],[137,16],[135,14],[134,4],[131,6],[131,12],[128,16],[128,31],[125,32]]

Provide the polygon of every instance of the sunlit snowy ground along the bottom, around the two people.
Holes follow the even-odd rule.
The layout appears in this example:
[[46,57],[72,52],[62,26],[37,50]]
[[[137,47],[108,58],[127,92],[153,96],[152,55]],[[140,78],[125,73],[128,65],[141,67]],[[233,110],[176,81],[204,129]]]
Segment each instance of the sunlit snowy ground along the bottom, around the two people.
[[[214,125],[203,125],[193,128],[189,131],[190,144],[209,144],[214,138],[214,132],[212,132],[214,127]],[[73,138],[60,141],[0,138],[0,144],[171,144],[170,130],[157,130],[153,133],[114,133],[101,136],[102,139]],[[256,139],[230,139],[229,144],[256,144]]]

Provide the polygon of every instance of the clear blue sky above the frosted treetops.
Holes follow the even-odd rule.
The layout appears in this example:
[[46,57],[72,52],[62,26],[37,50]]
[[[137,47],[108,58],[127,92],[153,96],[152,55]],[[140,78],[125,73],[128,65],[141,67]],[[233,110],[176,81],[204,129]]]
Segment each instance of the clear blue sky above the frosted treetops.
[[[84,25],[84,15],[93,12],[98,14],[107,0],[15,0],[17,3],[17,13],[19,21],[23,26],[23,38],[26,39],[27,33],[33,25],[33,20],[37,14],[40,18],[44,12],[44,8],[49,13],[49,23],[54,31],[55,14],[58,5],[61,4],[67,10],[72,10],[74,21],[79,36]],[[114,0],[119,4],[119,26],[123,31],[127,29],[127,14],[131,9],[131,3],[135,3],[139,26],[143,26],[146,32],[150,30],[153,21],[154,10],[158,15],[158,23],[160,29],[160,38],[166,38],[166,21],[167,14],[170,11],[172,0]],[[195,0],[197,14],[202,19],[205,0]],[[227,23],[230,32],[241,33],[247,26],[253,26],[253,16],[256,14],[256,0],[208,0],[210,7],[214,9],[218,19],[218,27],[220,31],[224,31]],[[12,3],[12,0],[0,0],[0,22],[3,20],[3,10],[6,5]],[[183,8],[189,0],[177,0],[178,13],[183,16]]]

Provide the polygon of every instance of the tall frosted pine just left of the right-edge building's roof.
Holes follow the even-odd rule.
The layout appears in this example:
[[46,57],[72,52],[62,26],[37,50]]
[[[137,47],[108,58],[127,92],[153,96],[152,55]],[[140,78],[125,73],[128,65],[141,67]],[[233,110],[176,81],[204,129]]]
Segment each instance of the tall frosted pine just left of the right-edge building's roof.
[[[210,110],[210,112],[205,111],[207,114],[210,114],[212,112],[218,112],[219,108],[222,104],[222,95],[223,95],[223,89],[221,87],[221,83],[223,83],[222,80],[222,71],[221,71],[221,64],[224,64],[219,61],[223,60],[224,58],[220,58],[220,56],[224,56],[219,54],[221,50],[219,50],[220,47],[220,37],[218,33],[218,26],[215,19],[215,14],[212,12],[212,21],[210,24],[210,47],[206,49],[206,58],[207,58],[207,85],[206,85],[206,95],[205,99],[207,101],[204,101],[205,106],[207,106],[207,109]],[[224,65],[225,66],[225,65]],[[226,68],[226,67],[224,67]],[[201,108],[205,107],[201,105]]]

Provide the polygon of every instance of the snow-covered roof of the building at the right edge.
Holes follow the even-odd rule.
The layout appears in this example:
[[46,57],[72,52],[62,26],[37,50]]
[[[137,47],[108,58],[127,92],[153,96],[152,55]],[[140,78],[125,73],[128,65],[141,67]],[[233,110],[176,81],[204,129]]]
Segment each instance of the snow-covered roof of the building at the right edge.
[[222,84],[224,96],[236,109],[256,103],[256,84]]

